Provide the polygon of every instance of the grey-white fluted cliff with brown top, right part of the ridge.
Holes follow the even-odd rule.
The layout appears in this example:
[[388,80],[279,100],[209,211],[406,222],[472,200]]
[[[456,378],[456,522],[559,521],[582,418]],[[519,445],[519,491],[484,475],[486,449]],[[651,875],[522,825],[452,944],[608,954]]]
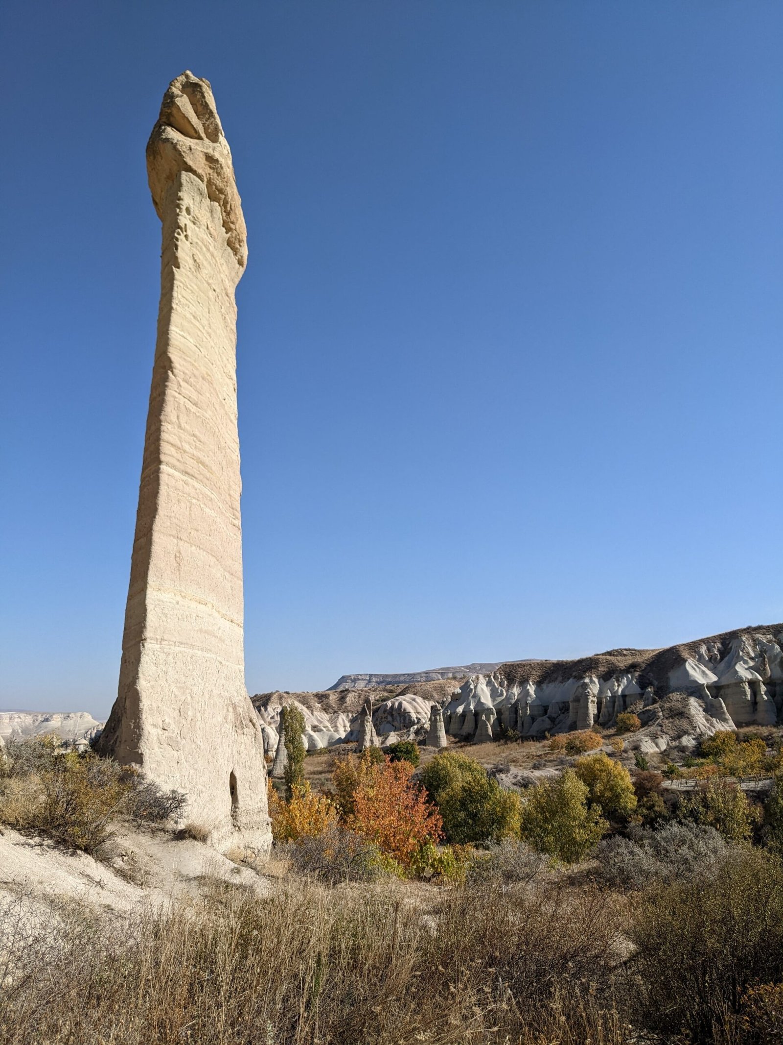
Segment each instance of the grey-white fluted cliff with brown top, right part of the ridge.
[[502,665],[488,676],[473,676],[453,694],[444,709],[446,728],[462,739],[474,739],[488,726],[495,739],[506,732],[541,737],[596,723],[612,726],[618,714],[634,711],[646,712],[642,721],[659,722],[662,729],[658,713],[665,717],[670,701],[664,698],[672,694],[690,701],[697,734],[772,725],[783,706],[782,647],[783,625],[777,624],[660,650]]

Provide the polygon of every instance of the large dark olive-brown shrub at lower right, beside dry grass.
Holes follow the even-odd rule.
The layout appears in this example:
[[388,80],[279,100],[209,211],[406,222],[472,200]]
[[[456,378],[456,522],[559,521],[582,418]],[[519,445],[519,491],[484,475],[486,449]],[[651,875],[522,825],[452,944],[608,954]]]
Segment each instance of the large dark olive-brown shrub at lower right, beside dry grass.
[[783,869],[759,850],[735,850],[710,873],[642,895],[631,936],[637,1016],[666,1041],[732,1036],[754,986],[783,979]]

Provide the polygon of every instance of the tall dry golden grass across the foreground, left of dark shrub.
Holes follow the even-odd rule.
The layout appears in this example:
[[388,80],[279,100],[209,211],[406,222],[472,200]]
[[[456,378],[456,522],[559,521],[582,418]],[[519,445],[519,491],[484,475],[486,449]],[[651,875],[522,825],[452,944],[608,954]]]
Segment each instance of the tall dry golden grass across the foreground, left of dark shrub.
[[[2,1045],[625,1045],[617,916],[597,892],[440,893],[399,883],[212,888],[108,929],[11,904]],[[419,902],[417,902],[417,900]]]

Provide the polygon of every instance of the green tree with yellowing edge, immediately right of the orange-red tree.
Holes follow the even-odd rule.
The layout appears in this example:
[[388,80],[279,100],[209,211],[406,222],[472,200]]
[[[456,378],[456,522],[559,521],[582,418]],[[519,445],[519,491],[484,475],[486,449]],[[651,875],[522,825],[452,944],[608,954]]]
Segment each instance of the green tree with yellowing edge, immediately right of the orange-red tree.
[[443,751],[425,767],[422,784],[443,817],[447,841],[481,845],[519,829],[519,796],[475,759]]

